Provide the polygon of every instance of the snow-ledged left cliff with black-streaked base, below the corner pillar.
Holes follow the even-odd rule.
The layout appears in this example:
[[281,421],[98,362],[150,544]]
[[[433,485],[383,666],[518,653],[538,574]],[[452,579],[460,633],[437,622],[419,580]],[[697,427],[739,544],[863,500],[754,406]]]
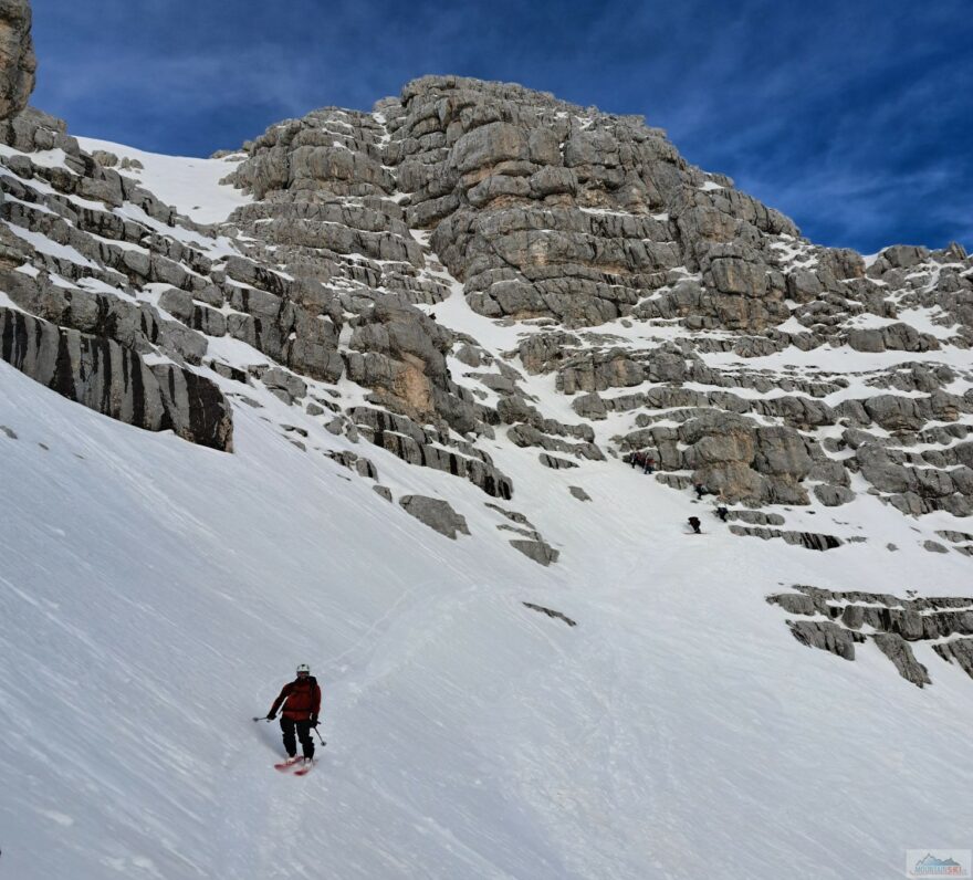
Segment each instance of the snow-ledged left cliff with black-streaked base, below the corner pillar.
[[[29,25],[29,10],[15,20]],[[196,321],[193,294],[205,296],[210,262],[153,226],[172,223],[172,209],[97,165],[41,112],[0,122],[0,138],[12,153],[3,191],[13,197],[0,208],[0,290],[11,304],[0,307],[0,356],[106,416],[232,451],[230,404],[197,371],[208,343],[195,327],[219,325]],[[61,150],[63,165],[35,163],[36,150]],[[145,226],[114,213],[126,202]],[[133,293],[155,284],[182,285],[167,302],[193,314],[177,307],[172,319]]]

